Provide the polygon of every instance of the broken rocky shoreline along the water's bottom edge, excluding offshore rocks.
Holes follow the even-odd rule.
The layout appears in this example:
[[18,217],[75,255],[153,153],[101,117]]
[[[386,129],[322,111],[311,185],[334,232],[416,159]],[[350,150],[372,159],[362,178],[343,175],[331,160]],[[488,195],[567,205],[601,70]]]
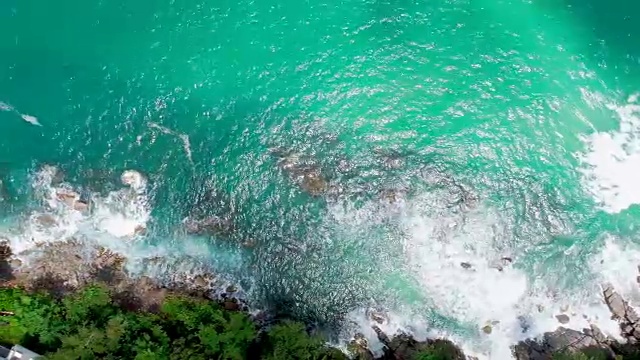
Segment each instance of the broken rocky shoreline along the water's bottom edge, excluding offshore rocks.
[[[188,282],[161,285],[149,277],[131,276],[124,268],[125,261],[126,258],[121,254],[101,247],[87,249],[86,244],[72,240],[47,245],[37,254],[35,261],[23,263],[13,256],[9,243],[0,239],[0,286],[47,291],[63,297],[66,293],[99,282],[109,287],[120,306],[130,310],[153,312],[170,294],[206,297],[218,301],[228,311],[248,310],[243,301],[234,296],[234,286],[214,289],[216,282],[213,275],[203,273]],[[635,358],[640,355],[640,316],[613,286],[603,284],[602,288],[603,301],[612,318],[618,321],[624,341],[605,336],[595,325],[582,331],[560,326],[539,339],[527,339],[513,345],[514,358],[556,359],[558,354],[576,353],[596,354],[589,355],[587,359],[617,359],[620,355]],[[255,315],[253,319],[258,326],[264,326],[272,322],[265,322],[267,317],[263,313]],[[383,354],[374,356],[364,336],[356,334],[347,347],[349,356],[360,360],[414,359],[422,350],[440,348],[447,354],[445,359],[472,359],[448,340],[420,341],[409,334],[389,336],[380,327],[372,327],[384,345]]]

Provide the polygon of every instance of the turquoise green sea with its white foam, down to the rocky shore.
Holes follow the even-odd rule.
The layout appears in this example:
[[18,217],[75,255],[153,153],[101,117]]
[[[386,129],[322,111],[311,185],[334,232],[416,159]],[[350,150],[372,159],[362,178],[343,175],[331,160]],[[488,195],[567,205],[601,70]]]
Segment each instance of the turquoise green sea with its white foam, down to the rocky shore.
[[[360,331],[379,348],[370,308],[486,359],[561,313],[615,333],[599,285],[640,304],[639,13],[4,0],[0,235],[24,261],[75,238],[134,274],[214,273],[336,345]],[[187,235],[194,216],[233,226]]]

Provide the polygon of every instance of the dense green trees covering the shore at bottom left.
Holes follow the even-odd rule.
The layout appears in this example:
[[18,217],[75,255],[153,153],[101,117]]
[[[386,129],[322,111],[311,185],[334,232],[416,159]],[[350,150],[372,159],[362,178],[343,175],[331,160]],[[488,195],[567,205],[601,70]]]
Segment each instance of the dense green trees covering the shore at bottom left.
[[300,359],[345,356],[285,322],[259,334],[247,314],[215,302],[174,296],[155,313],[117,306],[103,286],[63,300],[19,289],[0,289],[0,342],[20,343],[47,359]]

